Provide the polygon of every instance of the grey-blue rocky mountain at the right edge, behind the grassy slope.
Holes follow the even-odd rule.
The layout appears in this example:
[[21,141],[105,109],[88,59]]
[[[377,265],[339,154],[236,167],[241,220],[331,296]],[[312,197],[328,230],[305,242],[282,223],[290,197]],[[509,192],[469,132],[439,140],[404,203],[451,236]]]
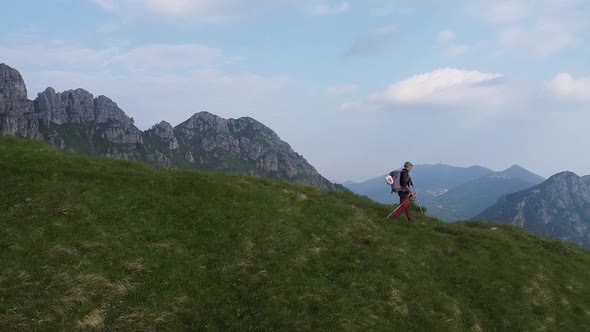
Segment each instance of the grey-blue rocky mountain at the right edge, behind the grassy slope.
[[590,249],[590,176],[562,172],[504,195],[474,219],[508,223]]

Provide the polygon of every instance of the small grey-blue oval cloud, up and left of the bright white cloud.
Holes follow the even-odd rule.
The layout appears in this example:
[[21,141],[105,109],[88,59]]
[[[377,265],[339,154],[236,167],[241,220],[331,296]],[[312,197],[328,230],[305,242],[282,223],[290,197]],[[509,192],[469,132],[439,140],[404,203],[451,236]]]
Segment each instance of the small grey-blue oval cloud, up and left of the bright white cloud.
[[346,53],[347,55],[373,55],[397,45],[399,32],[387,26],[358,37]]

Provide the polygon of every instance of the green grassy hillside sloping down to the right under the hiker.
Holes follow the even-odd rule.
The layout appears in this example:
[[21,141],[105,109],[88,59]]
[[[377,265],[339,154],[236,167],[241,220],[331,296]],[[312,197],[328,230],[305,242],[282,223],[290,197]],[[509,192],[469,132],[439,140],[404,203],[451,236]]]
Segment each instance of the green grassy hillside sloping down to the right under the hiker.
[[590,326],[590,252],[512,226],[15,138],[0,174],[8,331]]

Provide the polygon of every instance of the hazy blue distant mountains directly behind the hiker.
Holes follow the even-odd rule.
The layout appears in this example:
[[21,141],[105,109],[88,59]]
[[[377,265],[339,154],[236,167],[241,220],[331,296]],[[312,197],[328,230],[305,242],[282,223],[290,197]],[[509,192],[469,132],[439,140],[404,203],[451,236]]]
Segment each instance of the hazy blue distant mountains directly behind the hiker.
[[[482,166],[416,165],[411,176],[420,204],[428,209],[429,215],[445,221],[469,219],[493,205],[501,195],[529,188],[544,180],[518,165],[502,172]],[[390,194],[384,177],[345,186],[375,201],[395,203],[398,197]]]

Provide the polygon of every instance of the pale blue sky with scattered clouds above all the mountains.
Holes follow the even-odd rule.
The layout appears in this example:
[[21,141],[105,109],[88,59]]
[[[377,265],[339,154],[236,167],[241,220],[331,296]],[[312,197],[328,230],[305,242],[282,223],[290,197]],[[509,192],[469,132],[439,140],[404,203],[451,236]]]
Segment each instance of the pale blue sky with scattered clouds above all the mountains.
[[136,125],[252,117],[334,182],[414,164],[590,174],[587,0],[3,1],[28,96]]

